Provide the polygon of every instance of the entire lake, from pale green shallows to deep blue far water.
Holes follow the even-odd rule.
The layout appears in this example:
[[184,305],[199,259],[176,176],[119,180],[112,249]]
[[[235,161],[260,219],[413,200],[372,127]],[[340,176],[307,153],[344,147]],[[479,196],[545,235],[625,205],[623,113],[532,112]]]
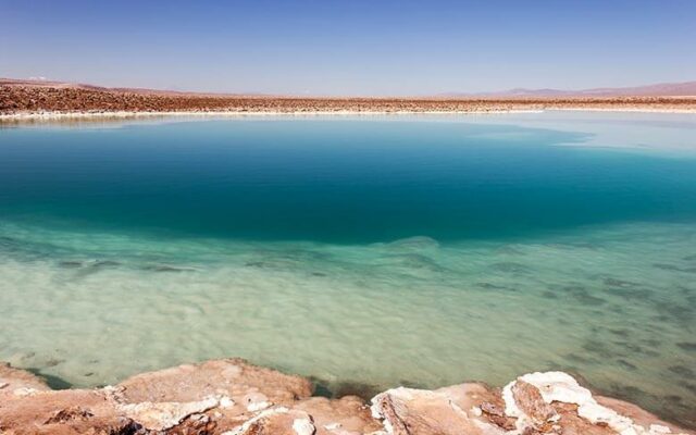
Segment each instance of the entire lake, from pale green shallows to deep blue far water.
[[165,121],[0,129],[0,360],[559,369],[696,425],[696,115]]

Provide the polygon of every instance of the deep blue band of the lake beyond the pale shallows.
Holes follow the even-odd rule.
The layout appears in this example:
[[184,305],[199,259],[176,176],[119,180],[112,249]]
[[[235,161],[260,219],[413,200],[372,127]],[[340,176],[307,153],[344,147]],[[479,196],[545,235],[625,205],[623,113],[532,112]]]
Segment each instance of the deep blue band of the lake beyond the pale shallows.
[[0,200],[10,219],[341,244],[696,217],[695,159],[557,146],[585,136],[327,120],[9,129]]

